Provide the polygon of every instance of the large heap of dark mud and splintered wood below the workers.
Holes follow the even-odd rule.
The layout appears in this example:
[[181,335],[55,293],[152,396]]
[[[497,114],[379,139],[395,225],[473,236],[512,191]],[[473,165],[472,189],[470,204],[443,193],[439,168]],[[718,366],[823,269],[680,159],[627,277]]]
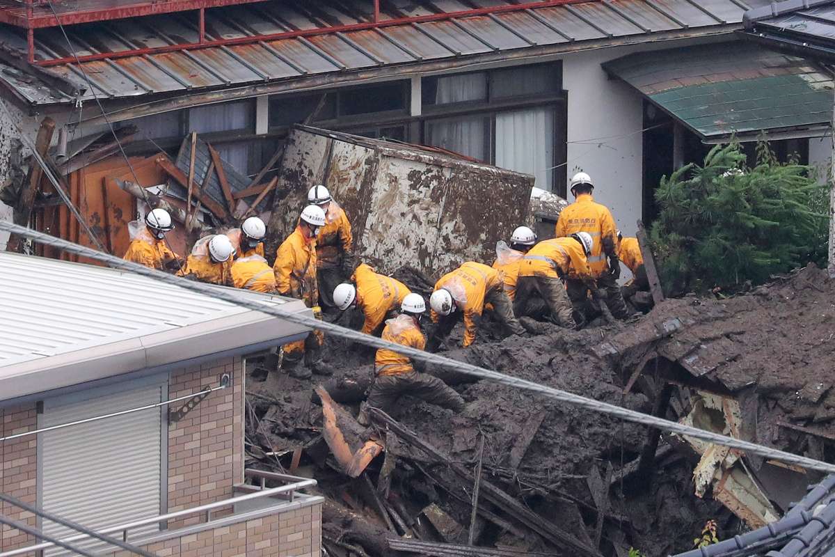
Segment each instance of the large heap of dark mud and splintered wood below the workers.
[[[482,337],[446,354],[671,419],[704,410],[696,404],[704,395],[735,400],[741,438],[831,461],[835,393],[824,367],[835,361],[833,320],[835,281],[809,267],[745,296],[666,300],[635,323],[579,332],[543,325],[536,337]],[[353,423],[372,380],[372,354],[334,338],[326,346],[339,371],[322,386]],[[721,538],[752,527],[746,509],[717,497],[730,485],[727,474],[711,476],[696,495],[702,455],[686,439],[428,371],[461,392],[463,413],[408,398],[391,417],[372,413],[365,439],[382,450],[356,478],[324,438],[315,382],[282,373],[248,382],[247,465],[318,480],[330,554],[625,557],[635,547],[662,555],[692,549],[708,519],[717,520]],[[696,419],[713,418],[710,411]],[[777,514],[819,479],[748,456],[739,462],[750,472],[746,489],[762,493]],[[468,548],[471,535],[476,551]]]

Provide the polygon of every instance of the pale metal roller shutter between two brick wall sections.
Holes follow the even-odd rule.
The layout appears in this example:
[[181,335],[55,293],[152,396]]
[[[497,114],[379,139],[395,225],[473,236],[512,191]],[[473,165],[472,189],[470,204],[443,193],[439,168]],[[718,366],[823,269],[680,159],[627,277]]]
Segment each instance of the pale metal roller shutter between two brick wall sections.
[[[157,377],[150,384],[146,379],[50,398],[43,401],[41,427],[159,403],[164,392],[166,384]],[[160,409],[150,408],[41,433],[43,509],[94,530],[161,514],[161,425]],[[157,529],[158,524],[134,529],[129,538]],[[43,532],[75,534],[48,520]]]

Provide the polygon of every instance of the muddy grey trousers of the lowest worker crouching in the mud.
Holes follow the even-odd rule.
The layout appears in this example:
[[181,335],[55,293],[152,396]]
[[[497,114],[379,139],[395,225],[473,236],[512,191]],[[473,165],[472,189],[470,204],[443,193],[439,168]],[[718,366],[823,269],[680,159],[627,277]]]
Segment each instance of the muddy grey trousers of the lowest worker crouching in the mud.
[[461,412],[464,408],[464,399],[447,383],[433,375],[415,371],[378,375],[374,379],[371,392],[368,393],[366,404],[390,413],[397,399],[406,395],[421,398],[442,408],[450,408],[455,412]]

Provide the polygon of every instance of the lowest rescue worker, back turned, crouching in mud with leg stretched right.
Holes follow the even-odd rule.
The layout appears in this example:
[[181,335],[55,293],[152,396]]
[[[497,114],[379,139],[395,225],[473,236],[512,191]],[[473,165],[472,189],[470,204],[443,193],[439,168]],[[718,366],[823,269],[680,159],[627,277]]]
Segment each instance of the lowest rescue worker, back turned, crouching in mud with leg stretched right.
[[[400,315],[386,322],[382,339],[423,350],[426,337],[421,331],[421,319],[425,311],[423,296],[413,293],[407,295],[400,306]],[[397,400],[405,395],[422,398],[456,413],[461,412],[464,408],[461,395],[438,377],[423,373],[423,369],[423,362],[412,362],[411,358],[387,348],[377,350],[374,358],[376,377],[357,421],[368,425],[366,407],[380,408],[388,413],[395,407]]]

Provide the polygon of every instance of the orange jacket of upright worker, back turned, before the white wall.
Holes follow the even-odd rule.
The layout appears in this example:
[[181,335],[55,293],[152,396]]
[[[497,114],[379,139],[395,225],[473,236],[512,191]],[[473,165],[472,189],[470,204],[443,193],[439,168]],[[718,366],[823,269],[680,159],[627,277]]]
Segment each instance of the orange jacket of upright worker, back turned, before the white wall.
[[[595,198],[590,194],[579,195],[574,203],[559,214],[555,231],[558,238],[574,232],[588,232],[594,241],[588,258],[592,276],[597,278],[609,269],[604,245],[609,244],[613,251],[616,249],[618,237],[615,219],[605,205],[595,203]],[[576,278],[574,275],[571,277]]]

